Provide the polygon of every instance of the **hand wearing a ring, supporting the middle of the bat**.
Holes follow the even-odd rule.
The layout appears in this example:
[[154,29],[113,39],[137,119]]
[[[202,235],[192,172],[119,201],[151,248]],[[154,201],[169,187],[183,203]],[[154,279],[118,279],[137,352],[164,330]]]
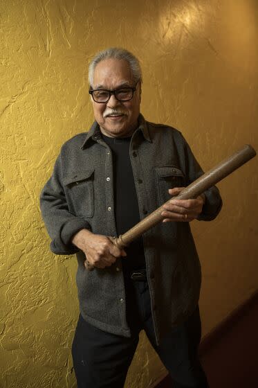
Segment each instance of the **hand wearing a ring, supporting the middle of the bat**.
[[[169,188],[170,195],[178,195],[184,187]],[[199,195],[194,200],[169,200],[168,204],[163,205],[164,211],[161,213],[163,222],[190,222],[198,217],[203,210],[205,196]]]

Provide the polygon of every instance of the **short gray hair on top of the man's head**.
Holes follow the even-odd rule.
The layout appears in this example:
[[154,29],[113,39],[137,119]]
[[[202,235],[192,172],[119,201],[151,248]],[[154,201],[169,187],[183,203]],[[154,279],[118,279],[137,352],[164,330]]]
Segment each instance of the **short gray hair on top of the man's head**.
[[100,53],[96,54],[93,60],[91,60],[91,63],[89,64],[88,78],[90,86],[93,86],[93,76],[97,64],[102,60],[107,60],[109,58],[126,60],[131,69],[133,82],[142,82],[142,70],[140,69],[140,63],[138,59],[132,53],[125,50],[125,48],[110,47],[106,48],[106,50],[100,51]]

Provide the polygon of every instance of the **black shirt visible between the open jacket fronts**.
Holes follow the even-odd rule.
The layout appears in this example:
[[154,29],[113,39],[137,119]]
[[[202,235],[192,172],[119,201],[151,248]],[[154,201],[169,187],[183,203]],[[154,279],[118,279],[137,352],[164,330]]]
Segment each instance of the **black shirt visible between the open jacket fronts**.
[[[102,134],[102,137],[112,151],[116,231],[119,236],[140,221],[136,186],[129,155],[131,136],[116,138]],[[125,271],[131,272],[145,268],[142,237],[133,241],[125,251],[127,257],[122,259]]]

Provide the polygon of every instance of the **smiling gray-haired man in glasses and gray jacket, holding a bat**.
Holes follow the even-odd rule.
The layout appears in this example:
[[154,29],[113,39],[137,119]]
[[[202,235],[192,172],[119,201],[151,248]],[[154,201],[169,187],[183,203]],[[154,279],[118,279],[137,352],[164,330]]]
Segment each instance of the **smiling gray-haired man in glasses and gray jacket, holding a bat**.
[[189,222],[216,217],[219,191],[171,200],[162,223],[125,250],[113,245],[203,171],[181,132],[140,114],[142,75],[131,53],[98,53],[89,86],[95,122],[63,145],[41,195],[52,252],[77,254],[77,386],[123,387],[144,329],[173,387],[208,387],[197,354],[201,269]]

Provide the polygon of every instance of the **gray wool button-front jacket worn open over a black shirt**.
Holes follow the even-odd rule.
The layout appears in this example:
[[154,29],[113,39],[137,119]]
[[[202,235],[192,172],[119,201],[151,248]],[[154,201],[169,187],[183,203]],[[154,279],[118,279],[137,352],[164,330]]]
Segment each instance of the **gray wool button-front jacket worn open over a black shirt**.
[[[169,188],[187,186],[203,174],[181,132],[145,121],[130,144],[130,158],[138,196],[140,219],[169,200]],[[107,179],[109,177],[110,179]],[[205,191],[199,220],[213,220],[222,202],[214,186]],[[101,330],[130,336],[126,319],[122,260],[104,270],[87,271],[85,256],[72,243],[86,228],[117,236],[112,152],[104,143],[98,123],[62,146],[53,175],[40,197],[42,216],[54,254],[77,255],[77,289],[80,312]],[[160,223],[143,235],[147,278],[156,342],[189,317],[199,302],[201,265],[188,222]]]

